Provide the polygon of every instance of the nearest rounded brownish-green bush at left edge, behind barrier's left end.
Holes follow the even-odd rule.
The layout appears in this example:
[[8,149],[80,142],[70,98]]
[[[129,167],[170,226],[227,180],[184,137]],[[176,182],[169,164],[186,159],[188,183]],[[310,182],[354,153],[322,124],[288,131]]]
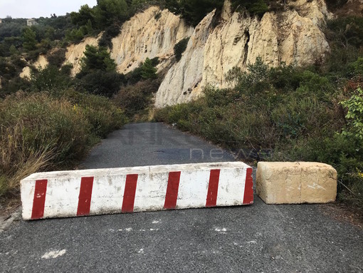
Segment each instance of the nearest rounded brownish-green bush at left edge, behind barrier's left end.
[[43,158],[36,167],[43,170],[51,163],[79,160],[88,150],[90,125],[64,99],[19,94],[2,101],[0,109],[0,172],[9,178],[10,190],[17,189],[14,178],[19,182],[28,174],[28,159]]

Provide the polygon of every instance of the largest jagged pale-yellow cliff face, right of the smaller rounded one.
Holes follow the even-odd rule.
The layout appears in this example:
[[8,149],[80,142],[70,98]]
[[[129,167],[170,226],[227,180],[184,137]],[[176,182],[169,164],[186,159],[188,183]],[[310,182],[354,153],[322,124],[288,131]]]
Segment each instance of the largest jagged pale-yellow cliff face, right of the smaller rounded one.
[[190,101],[200,96],[208,84],[226,88],[226,73],[233,66],[246,71],[248,63],[254,63],[258,56],[270,66],[281,62],[312,63],[323,57],[329,51],[320,30],[330,16],[325,2],[298,0],[288,4],[292,9],[278,14],[268,12],[259,20],[246,14],[232,14],[227,1],[222,21],[214,29],[206,24],[211,22],[214,12],[206,16],[191,36],[191,41],[204,37],[201,40],[204,46],[189,42],[181,61],[167,73],[155,105],[160,108]]

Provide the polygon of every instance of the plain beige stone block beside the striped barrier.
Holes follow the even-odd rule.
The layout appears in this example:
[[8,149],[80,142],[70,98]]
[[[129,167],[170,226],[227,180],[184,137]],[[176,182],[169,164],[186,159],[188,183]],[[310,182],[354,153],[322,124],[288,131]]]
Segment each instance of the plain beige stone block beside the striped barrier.
[[260,162],[256,191],[267,204],[334,202],[337,171],[324,163]]

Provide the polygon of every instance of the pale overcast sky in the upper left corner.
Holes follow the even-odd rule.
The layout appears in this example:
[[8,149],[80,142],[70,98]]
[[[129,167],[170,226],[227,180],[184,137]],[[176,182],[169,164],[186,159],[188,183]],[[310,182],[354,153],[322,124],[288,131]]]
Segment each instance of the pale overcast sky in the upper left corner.
[[80,6],[95,6],[97,0],[0,0],[0,18],[50,17],[51,14],[65,15],[78,11]]

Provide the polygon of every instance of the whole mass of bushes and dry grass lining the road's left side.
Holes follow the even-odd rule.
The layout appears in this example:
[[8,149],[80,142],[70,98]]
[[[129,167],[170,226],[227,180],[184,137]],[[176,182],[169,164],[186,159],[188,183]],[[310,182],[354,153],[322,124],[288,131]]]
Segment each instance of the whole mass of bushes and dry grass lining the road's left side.
[[[66,98],[70,97],[70,99]],[[0,101],[0,197],[33,172],[70,168],[125,115],[106,98],[68,91],[17,93]]]

